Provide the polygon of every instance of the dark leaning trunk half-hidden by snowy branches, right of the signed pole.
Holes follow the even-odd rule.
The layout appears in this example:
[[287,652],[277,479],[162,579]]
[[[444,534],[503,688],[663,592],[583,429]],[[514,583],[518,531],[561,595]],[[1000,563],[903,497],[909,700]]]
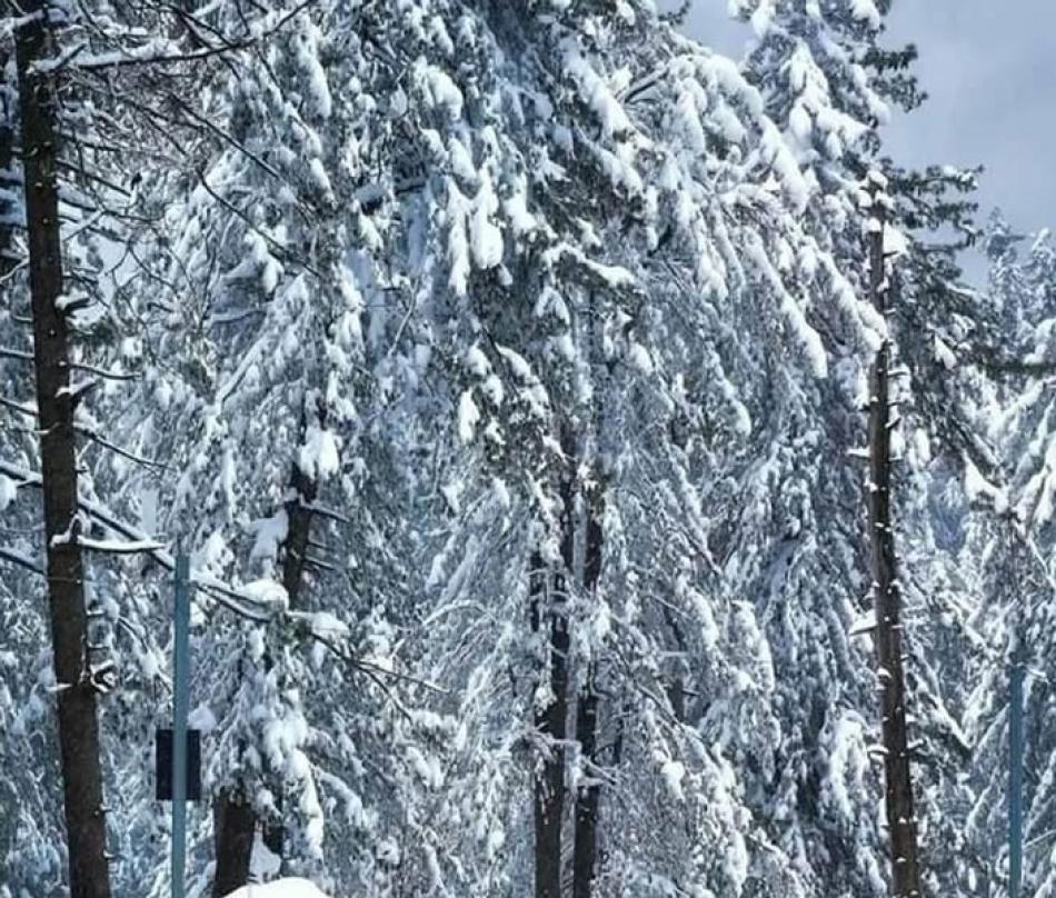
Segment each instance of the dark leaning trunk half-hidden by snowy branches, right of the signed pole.
[[[305,430],[303,421],[301,430]],[[295,462],[290,478],[293,496],[286,503],[286,539],[282,541],[282,586],[291,610],[300,605],[300,590],[305,575],[305,559],[311,536],[311,503],[316,499],[316,481],[306,476]],[[281,788],[275,796],[276,808],[281,817],[285,805]],[[253,836],[257,816],[249,799],[239,790],[223,790],[213,805],[216,830],[217,874],[213,881],[215,898],[222,898],[249,880]],[[262,822],[261,839],[268,850],[282,858],[286,827],[282,820]],[[285,858],[283,858],[285,861]]]

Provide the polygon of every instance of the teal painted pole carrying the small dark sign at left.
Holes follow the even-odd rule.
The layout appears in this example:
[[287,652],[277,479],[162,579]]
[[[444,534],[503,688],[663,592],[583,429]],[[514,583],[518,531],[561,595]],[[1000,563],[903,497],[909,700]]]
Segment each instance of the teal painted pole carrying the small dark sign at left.
[[172,609],[172,898],[183,898],[187,866],[187,714],[190,707],[190,560],[176,557]]

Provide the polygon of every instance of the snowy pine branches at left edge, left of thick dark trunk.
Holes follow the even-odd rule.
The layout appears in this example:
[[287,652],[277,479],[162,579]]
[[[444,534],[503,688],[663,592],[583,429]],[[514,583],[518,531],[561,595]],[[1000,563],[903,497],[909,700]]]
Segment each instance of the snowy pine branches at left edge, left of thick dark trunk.
[[[26,303],[21,299],[26,265],[24,206],[18,147],[18,74],[14,44],[8,34],[0,43],[0,330],[2,330],[3,426],[0,429],[0,521],[3,541],[0,563],[0,764],[8,771],[0,786],[0,882],[6,889],[30,886],[40,895],[61,894],[67,881],[62,844],[62,796],[52,788],[61,776],[56,762],[53,684],[48,621],[40,612],[38,553],[39,496],[21,476],[29,459],[38,457],[32,416],[19,411],[16,400],[33,393],[32,341],[26,328]],[[26,765],[26,751],[40,752],[42,764]],[[37,776],[26,776],[34,768]],[[41,771],[44,776],[39,776]],[[10,892],[9,892],[10,894]],[[14,892],[17,894],[17,891]]]

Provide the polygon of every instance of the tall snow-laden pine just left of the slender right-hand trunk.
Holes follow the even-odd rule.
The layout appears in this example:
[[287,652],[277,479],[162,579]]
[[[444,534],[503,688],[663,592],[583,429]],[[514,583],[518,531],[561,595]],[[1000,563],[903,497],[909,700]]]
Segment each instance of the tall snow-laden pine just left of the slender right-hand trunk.
[[759,605],[780,695],[780,739],[761,790],[763,814],[777,844],[809,876],[808,889],[879,896],[887,892],[887,864],[868,754],[873,663],[848,636],[868,601],[868,541],[851,498],[861,472],[847,456],[863,442],[856,403],[887,329],[874,319],[870,343],[828,325],[841,302],[866,296],[857,201],[864,171],[851,160],[865,151],[886,104],[855,51],[879,20],[871,12],[857,18],[841,2],[741,3],[739,12],[757,34],[746,74],[795,148],[809,233],[829,252],[828,270],[805,261],[821,269],[825,300],[815,303],[813,320],[835,357],[834,376],[818,386],[797,382],[777,365],[760,378],[757,389],[769,393],[763,432],[773,443],[757,463],[768,473],[745,479],[745,512],[731,528],[734,545],[746,548],[729,569]]

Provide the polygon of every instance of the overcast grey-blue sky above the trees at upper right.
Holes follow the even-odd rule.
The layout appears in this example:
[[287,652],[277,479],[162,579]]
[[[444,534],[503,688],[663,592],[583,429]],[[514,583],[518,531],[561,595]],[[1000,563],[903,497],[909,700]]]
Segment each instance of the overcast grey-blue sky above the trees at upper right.
[[[737,58],[747,38],[726,0],[694,0],[688,29]],[[982,163],[983,216],[999,206],[1017,229],[1056,227],[1056,0],[895,0],[888,43],[908,41],[930,99],[887,128],[890,154]]]

